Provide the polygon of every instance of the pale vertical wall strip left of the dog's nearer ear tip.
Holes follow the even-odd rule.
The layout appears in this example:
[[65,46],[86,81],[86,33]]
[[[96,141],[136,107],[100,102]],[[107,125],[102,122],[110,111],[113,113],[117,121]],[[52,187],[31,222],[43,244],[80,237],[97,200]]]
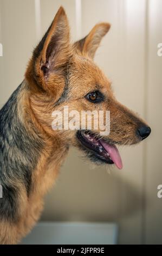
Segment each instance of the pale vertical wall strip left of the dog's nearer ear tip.
[[35,0],[35,26],[36,26],[36,40],[41,39],[41,3],[40,0]]

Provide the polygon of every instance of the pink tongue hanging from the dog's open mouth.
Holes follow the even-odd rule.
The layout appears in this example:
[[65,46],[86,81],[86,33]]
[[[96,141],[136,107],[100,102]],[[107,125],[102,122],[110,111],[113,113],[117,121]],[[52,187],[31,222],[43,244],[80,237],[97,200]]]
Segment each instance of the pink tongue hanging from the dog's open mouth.
[[103,146],[103,148],[105,148],[105,150],[107,151],[107,153],[109,154],[113,162],[115,163],[115,166],[118,167],[119,169],[122,169],[122,160],[116,146],[109,145],[102,140],[100,140],[100,143]]

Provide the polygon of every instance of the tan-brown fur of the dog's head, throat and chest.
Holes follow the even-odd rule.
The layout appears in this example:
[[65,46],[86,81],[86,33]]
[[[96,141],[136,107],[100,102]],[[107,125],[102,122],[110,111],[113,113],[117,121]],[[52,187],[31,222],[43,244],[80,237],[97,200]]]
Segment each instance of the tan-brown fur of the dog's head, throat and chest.
[[[34,51],[25,73],[24,90],[20,95],[19,115],[25,126],[32,130],[30,123],[41,133],[45,147],[32,176],[29,197],[20,185],[20,218],[17,223],[0,223],[1,243],[17,243],[25,236],[40,217],[43,196],[56,180],[60,166],[68,153],[69,145],[78,147],[75,131],[54,131],[51,129],[53,110],[69,109],[110,110],[111,133],[109,138],[118,144],[139,142],[135,135],[143,121],[116,101],[111,83],[93,62],[102,37],[110,25],[96,25],[86,38],[70,44],[67,16],[61,7],[40,45]],[[66,87],[68,74],[68,96],[58,105]],[[105,94],[105,101],[94,105],[85,95],[96,89]],[[55,107],[54,107],[55,106]]]

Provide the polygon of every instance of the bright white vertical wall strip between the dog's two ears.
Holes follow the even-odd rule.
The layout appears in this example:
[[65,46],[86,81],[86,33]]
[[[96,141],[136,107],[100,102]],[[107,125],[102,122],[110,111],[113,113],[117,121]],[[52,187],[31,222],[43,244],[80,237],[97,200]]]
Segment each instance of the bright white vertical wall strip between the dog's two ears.
[[82,36],[82,4],[81,0],[75,0],[76,40]]

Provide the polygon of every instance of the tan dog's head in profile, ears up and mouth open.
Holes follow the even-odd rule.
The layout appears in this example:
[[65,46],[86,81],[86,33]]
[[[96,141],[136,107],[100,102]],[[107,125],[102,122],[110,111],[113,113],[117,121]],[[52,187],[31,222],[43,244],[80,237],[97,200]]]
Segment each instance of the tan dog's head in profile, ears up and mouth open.
[[122,168],[116,145],[138,143],[151,129],[116,101],[111,83],[93,62],[109,28],[108,23],[99,23],[71,44],[61,7],[35,48],[25,77],[31,108],[50,137],[57,136],[62,145],[79,147],[94,161]]

